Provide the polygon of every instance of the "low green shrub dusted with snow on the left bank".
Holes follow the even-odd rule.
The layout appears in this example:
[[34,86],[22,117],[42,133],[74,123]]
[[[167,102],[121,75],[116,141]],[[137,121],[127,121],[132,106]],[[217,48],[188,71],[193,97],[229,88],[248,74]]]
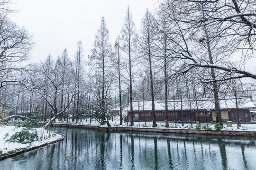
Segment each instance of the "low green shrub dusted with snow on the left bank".
[[11,136],[8,141],[27,144],[36,140],[38,140],[38,134],[36,129],[23,128],[20,132],[16,132],[13,136]]

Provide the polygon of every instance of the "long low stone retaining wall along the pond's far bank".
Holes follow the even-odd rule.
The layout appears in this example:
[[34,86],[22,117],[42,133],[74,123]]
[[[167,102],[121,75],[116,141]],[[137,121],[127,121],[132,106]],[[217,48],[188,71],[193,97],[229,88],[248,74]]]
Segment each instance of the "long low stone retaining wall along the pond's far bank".
[[[75,124],[55,124],[60,127],[78,127],[96,130],[109,130],[107,127]],[[153,128],[153,127],[110,127],[112,131],[136,131],[136,132],[160,132],[179,134],[201,134],[201,135],[223,135],[223,136],[256,136],[255,131],[239,130],[196,130],[196,129],[174,129],[174,128]]]

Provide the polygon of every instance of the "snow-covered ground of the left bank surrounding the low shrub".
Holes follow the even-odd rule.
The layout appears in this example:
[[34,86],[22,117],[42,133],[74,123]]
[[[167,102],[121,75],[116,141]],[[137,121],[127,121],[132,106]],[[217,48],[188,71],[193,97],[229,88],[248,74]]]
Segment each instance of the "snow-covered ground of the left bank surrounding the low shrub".
[[4,126],[0,127],[0,155],[4,153],[10,153],[22,150],[24,148],[31,148],[34,146],[40,146],[42,144],[50,143],[59,139],[62,139],[63,136],[56,134],[55,132],[49,131],[43,128],[32,128],[37,130],[38,140],[32,143],[21,144],[18,142],[8,142],[8,139],[16,132],[20,132],[24,127],[15,127],[15,126]]

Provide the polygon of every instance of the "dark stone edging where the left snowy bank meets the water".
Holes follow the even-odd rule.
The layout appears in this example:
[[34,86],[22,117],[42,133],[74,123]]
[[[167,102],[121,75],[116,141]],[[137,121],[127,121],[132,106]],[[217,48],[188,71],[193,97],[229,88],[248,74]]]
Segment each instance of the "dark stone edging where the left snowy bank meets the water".
[[4,159],[7,159],[7,158],[10,158],[10,157],[13,157],[13,156],[17,156],[17,155],[22,154],[22,153],[26,153],[28,151],[32,151],[32,150],[36,150],[36,149],[42,148],[42,147],[44,147],[44,146],[46,146],[48,144],[55,144],[57,142],[61,142],[61,141],[64,140],[64,138],[65,138],[65,136],[62,135],[61,139],[58,139],[58,140],[55,140],[55,141],[52,141],[52,142],[49,142],[49,143],[44,143],[44,144],[41,144],[39,146],[34,146],[34,147],[31,147],[31,148],[27,148],[27,149],[26,148],[25,149],[21,149],[21,150],[15,152],[15,153],[10,153],[10,154],[7,154],[7,155],[0,156],[0,161],[4,160]]

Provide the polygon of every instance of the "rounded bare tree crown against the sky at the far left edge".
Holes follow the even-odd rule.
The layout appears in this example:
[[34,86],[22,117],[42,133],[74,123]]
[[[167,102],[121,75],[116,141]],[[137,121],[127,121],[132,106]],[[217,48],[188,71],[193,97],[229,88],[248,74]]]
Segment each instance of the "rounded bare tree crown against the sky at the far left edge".
[[[24,70],[21,62],[28,58],[32,49],[32,36],[0,13],[0,88],[6,85],[18,85],[19,81],[11,75]],[[10,75],[10,76],[9,76]],[[8,77],[8,78],[7,78]],[[20,80],[21,81],[21,80]]]

